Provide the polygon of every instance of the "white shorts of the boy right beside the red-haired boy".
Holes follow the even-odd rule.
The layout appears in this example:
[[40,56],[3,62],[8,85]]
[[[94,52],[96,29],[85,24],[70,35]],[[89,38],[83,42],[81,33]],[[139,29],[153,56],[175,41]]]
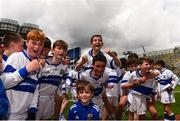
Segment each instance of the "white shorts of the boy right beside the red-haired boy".
[[40,96],[36,119],[49,119],[54,113],[54,96]]

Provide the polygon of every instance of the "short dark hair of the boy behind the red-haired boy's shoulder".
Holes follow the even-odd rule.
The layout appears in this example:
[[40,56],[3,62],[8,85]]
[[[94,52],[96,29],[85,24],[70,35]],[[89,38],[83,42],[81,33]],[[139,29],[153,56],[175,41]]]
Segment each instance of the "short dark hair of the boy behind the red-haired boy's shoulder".
[[4,38],[3,38],[3,44],[5,47],[9,47],[10,43],[11,42],[18,42],[22,39],[22,36],[17,34],[17,33],[14,33],[14,32],[7,32],[5,35],[4,35]]

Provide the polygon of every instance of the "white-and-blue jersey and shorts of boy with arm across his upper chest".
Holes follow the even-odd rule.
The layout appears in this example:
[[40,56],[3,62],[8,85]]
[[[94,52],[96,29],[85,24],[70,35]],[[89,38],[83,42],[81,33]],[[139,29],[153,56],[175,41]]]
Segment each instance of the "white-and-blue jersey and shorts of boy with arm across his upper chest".
[[[137,69],[130,74],[128,82],[141,78],[141,71]],[[148,79],[144,83],[132,87],[128,94],[128,110],[136,112],[137,115],[144,115],[147,112],[147,99],[151,98],[157,91],[155,78]]]

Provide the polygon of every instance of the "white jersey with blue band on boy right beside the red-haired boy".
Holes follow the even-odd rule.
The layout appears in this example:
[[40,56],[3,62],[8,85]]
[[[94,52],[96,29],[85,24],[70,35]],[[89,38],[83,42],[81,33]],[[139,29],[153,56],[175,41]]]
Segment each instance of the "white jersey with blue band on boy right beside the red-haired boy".
[[45,59],[45,62],[46,64],[38,76],[40,97],[53,96],[58,89],[64,90],[61,88],[65,84],[63,78],[67,72],[67,65],[63,63],[51,64],[48,58]]

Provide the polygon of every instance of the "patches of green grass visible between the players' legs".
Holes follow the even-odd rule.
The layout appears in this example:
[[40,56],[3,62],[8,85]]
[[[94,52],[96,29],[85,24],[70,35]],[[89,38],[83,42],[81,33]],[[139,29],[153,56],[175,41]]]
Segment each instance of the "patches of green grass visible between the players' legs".
[[[180,85],[176,86],[175,91],[180,91]],[[172,109],[174,114],[180,114],[180,92],[179,93],[175,93],[175,98],[176,98],[176,103],[172,104]],[[69,98],[71,99],[71,98]],[[70,106],[73,104],[72,101],[69,101],[68,107],[65,110],[65,118],[67,118],[68,115],[68,111]],[[158,119],[163,119],[164,114],[163,114],[163,105],[160,102],[156,103],[157,106],[157,110],[158,110]],[[146,119],[151,120],[151,116],[149,114],[149,112],[146,115]],[[127,120],[127,111],[125,110],[122,116],[122,120]]]

